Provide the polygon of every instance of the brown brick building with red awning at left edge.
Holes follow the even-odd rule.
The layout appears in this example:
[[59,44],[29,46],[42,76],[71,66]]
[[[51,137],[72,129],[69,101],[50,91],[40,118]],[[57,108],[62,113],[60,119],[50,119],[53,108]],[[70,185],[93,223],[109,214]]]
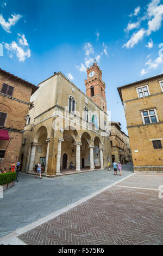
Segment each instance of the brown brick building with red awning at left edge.
[[30,96],[36,90],[35,85],[0,69],[0,168],[9,170],[18,161]]

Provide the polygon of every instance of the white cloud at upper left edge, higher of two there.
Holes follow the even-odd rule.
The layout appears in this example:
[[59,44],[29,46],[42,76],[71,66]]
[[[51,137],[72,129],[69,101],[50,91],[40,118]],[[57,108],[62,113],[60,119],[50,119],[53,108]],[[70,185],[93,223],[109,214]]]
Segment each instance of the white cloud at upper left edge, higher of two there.
[[17,21],[20,20],[22,17],[22,15],[20,14],[11,14],[11,16],[12,18],[9,18],[8,21],[5,21],[3,15],[0,14],[0,24],[2,28],[8,33],[11,33],[10,28],[14,26],[17,23]]

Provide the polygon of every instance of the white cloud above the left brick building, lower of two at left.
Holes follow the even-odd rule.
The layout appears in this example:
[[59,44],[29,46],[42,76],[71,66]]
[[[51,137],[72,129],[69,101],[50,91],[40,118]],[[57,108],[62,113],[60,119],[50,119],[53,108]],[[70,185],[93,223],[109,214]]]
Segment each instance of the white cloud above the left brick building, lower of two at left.
[[10,58],[12,58],[14,55],[17,56],[19,62],[24,62],[26,58],[29,58],[30,55],[30,49],[29,44],[27,43],[27,40],[23,35],[18,34],[18,37],[21,37],[18,40],[18,45],[15,41],[12,41],[11,44],[4,43],[4,47],[8,50],[8,55]]

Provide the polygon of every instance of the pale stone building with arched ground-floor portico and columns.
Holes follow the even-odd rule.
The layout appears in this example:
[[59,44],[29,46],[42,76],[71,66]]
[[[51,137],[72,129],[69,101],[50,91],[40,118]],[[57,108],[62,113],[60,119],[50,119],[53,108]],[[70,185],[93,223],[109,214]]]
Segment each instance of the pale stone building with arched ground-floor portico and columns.
[[[92,68],[99,71],[97,63]],[[106,167],[111,159],[110,130],[102,101],[93,102],[60,72],[38,87],[23,135],[22,171],[33,172],[40,160],[42,171],[51,176],[70,169],[71,163],[74,171]]]

